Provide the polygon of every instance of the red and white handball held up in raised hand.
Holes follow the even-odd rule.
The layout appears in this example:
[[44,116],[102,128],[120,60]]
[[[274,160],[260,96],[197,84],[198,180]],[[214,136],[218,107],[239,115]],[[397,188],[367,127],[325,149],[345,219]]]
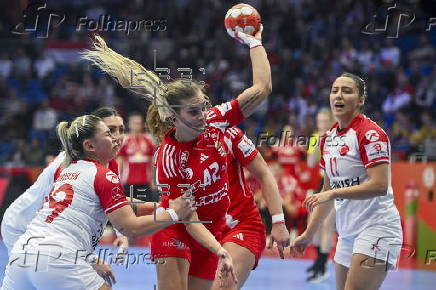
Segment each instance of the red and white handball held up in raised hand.
[[227,30],[255,35],[260,29],[260,15],[254,7],[240,3],[227,11],[224,26]]

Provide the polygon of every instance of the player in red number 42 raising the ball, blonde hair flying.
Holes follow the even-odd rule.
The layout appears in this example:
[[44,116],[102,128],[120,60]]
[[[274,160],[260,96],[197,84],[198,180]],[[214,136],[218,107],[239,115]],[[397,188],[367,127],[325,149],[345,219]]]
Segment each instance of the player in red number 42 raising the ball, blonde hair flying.
[[[236,99],[209,110],[200,85],[188,80],[163,84],[153,72],[115,53],[99,37],[95,48],[84,53],[85,59],[123,87],[153,102],[147,123],[150,132],[162,140],[155,160],[158,186],[169,199],[192,193],[198,218],[205,222],[176,224],[153,236],[152,254],[166,257],[165,263],[157,265],[159,289],[210,289],[218,257],[224,284],[229,282],[226,278],[234,278],[231,258],[216,240],[222,237],[229,206],[224,131],[253,113],[269,95],[271,72],[261,31],[255,37],[233,36],[250,47],[253,85]],[[167,196],[162,198],[164,207],[165,200]]]

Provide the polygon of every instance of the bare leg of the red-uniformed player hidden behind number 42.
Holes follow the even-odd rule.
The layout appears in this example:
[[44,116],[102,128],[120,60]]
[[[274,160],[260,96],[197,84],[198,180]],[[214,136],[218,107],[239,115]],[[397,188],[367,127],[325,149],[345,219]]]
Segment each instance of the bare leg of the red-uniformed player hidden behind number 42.
[[224,243],[223,247],[232,256],[233,267],[235,269],[236,277],[238,278],[238,285],[233,285],[229,288],[220,288],[219,279],[215,279],[212,290],[238,290],[244,286],[245,281],[254,267],[254,263],[256,262],[254,254],[247,248],[241,247],[232,242]]

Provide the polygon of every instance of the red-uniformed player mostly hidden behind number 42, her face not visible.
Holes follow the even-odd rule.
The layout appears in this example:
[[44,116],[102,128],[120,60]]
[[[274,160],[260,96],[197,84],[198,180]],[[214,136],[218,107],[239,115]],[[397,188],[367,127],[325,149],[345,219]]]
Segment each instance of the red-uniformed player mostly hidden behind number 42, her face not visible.
[[[230,207],[220,242],[232,257],[238,279],[237,285],[225,288],[230,290],[244,286],[250,271],[257,267],[265,249],[265,226],[254,202],[253,192],[245,181],[243,166],[260,184],[263,198],[273,219],[269,247],[276,241],[282,259],[283,248],[289,246],[289,232],[285,225],[277,182],[256,146],[236,127],[226,130],[224,141],[230,151],[227,165]],[[212,289],[223,289],[220,287],[219,279],[215,279]]]

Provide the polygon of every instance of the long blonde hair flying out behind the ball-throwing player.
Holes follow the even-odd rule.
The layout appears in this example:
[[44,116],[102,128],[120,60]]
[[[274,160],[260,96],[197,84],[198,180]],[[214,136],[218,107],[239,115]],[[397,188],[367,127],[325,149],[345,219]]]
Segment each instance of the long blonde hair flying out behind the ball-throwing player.
[[173,126],[171,117],[179,112],[181,101],[204,90],[203,85],[186,79],[163,83],[154,72],[110,49],[98,35],[93,46],[92,50],[82,53],[83,59],[91,61],[122,87],[151,102],[147,110],[147,125],[157,139]]

